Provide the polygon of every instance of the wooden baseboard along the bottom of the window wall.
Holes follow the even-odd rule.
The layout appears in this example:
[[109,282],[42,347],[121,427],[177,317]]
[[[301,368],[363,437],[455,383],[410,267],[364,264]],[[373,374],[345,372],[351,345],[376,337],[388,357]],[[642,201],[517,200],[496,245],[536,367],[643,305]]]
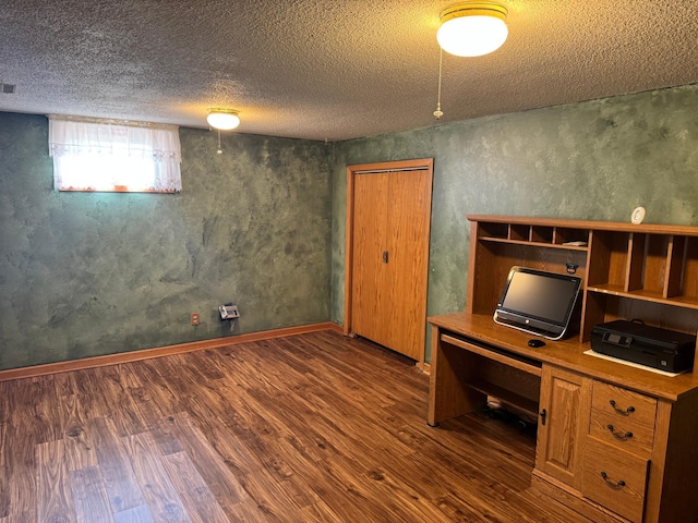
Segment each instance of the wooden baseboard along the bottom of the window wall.
[[117,365],[119,363],[140,362],[142,360],[149,360],[152,357],[169,356],[171,354],[182,354],[184,352],[204,351],[206,349],[218,349],[220,346],[237,345],[239,343],[249,343],[252,341],[272,340],[275,338],[285,338],[287,336],[294,335],[305,335],[308,332],[317,332],[321,330],[333,330],[340,335],[344,333],[342,327],[332,321],[326,321],[323,324],[302,325],[299,327],[288,327],[285,329],[263,330],[260,332],[250,332],[248,335],[193,341],[191,343],[181,343],[178,345],[143,349],[140,351],[121,352],[118,354],[107,354],[104,356],[85,357],[83,360],[71,360],[69,362],[47,363],[45,365],[35,365],[32,367],[11,368],[8,370],[0,370],[0,381],[9,381],[11,379],[21,378],[33,378],[35,376],[67,373],[69,370],[80,370],[83,368],[105,367],[107,365]]

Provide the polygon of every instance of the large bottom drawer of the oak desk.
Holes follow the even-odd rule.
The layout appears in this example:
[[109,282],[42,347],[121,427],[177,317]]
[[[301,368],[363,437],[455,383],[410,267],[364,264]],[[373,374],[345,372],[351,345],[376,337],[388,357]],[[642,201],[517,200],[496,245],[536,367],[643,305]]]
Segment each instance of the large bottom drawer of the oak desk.
[[642,521],[649,461],[587,436],[581,494],[634,522]]

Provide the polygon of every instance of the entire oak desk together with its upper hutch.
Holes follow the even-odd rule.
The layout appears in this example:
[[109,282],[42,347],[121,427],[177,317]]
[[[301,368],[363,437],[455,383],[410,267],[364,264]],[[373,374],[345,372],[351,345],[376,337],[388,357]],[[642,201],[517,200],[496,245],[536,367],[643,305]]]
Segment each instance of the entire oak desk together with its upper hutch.
[[[428,423],[497,398],[538,417],[534,488],[593,521],[698,521],[698,372],[585,354],[593,326],[614,319],[696,333],[698,227],[468,219],[466,311],[430,318]],[[533,349],[493,321],[514,265],[583,279],[575,335]]]

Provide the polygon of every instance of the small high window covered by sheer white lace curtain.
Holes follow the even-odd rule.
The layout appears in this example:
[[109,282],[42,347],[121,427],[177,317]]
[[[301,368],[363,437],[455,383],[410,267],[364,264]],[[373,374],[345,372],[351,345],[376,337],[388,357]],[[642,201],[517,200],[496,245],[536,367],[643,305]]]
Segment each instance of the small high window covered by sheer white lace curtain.
[[176,125],[49,117],[48,129],[58,191],[182,190]]

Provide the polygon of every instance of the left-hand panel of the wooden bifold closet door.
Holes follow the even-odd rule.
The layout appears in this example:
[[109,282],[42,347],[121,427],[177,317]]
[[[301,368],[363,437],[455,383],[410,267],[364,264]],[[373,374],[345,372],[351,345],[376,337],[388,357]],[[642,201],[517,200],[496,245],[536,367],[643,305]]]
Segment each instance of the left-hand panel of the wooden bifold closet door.
[[387,238],[388,174],[361,174],[354,180],[352,330],[389,346],[390,335],[383,317],[387,264],[383,263]]

